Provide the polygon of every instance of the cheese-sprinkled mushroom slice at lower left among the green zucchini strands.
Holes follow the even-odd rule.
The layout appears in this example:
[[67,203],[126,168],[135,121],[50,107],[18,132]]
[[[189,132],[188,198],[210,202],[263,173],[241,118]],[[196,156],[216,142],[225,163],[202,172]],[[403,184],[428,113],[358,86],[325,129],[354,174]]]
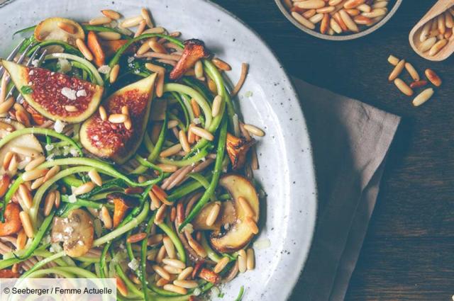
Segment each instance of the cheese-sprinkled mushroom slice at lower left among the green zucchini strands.
[[63,242],[67,256],[79,257],[92,249],[94,227],[89,214],[74,209],[67,217],[54,217],[52,242]]

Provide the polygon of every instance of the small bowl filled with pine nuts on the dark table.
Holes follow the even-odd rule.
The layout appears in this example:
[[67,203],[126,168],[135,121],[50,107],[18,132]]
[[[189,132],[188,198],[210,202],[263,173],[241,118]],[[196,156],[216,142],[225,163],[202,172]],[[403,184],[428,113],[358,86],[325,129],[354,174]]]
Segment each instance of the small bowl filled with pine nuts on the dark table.
[[297,28],[324,40],[353,40],[374,32],[402,0],[275,0]]

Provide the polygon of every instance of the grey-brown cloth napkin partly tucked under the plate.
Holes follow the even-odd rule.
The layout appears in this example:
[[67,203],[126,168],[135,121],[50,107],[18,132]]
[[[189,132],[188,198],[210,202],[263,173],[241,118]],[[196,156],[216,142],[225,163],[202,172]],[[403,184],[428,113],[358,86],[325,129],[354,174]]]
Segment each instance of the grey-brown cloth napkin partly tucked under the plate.
[[345,298],[400,118],[294,79],[314,154],[319,212],[291,301]]

